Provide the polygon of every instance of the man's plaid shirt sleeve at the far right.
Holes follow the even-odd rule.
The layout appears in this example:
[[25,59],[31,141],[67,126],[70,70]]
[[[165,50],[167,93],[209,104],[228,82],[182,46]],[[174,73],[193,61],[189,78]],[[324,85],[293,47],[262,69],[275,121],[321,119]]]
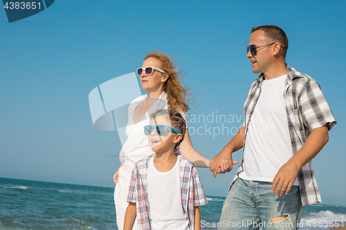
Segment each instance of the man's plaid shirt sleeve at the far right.
[[300,96],[300,109],[304,125],[310,132],[327,124],[328,130],[336,124],[333,113],[323,96],[322,90],[317,82],[309,81]]

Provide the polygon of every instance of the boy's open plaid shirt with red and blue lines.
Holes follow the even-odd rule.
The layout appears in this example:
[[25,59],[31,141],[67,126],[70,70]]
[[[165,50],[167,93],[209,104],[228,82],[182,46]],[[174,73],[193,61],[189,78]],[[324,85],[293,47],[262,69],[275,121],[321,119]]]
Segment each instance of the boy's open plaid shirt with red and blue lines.
[[[147,200],[147,166],[150,157],[155,153],[136,163],[131,174],[129,194],[127,202],[135,202],[137,210],[138,229],[152,229],[149,203]],[[179,160],[179,175],[181,184],[181,201],[183,210],[187,213],[190,229],[194,229],[194,207],[208,204],[203,192],[201,180],[196,167],[180,154],[176,154]]]

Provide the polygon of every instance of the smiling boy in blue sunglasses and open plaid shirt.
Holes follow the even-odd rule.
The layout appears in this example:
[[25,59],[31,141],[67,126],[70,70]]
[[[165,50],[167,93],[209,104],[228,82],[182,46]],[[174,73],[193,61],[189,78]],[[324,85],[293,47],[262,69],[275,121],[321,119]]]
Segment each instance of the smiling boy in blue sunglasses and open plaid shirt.
[[185,135],[183,116],[166,109],[151,116],[145,135],[155,153],[134,166],[124,229],[201,229],[199,205],[207,204],[197,170],[175,154]]

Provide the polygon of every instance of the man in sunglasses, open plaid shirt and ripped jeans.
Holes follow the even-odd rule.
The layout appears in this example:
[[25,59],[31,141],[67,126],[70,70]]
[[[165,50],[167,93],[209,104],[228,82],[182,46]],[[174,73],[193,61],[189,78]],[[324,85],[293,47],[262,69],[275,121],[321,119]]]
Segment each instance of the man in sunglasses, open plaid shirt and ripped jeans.
[[311,160],[336,121],[315,80],[286,64],[288,46],[277,26],[252,30],[246,57],[261,74],[242,128],[210,162],[215,176],[243,147],[219,229],[298,229],[302,206],[321,202]]

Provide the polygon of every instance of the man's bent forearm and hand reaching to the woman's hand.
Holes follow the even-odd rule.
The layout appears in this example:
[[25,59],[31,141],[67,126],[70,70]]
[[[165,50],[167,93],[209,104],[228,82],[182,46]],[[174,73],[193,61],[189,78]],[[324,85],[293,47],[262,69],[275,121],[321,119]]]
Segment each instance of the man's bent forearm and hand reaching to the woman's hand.
[[[242,126],[242,128],[239,129],[239,131],[235,134],[232,140],[230,140],[230,142],[228,142],[228,144],[224,146],[222,151],[219,154],[217,154],[214,158],[212,158],[212,160],[210,160],[209,168],[212,171],[214,178],[216,177],[217,170],[220,168],[221,164],[224,164],[223,160],[233,162],[232,153],[238,151],[240,148],[243,147],[244,139],[245,127]],[[233,162],[233,164],[238,164],[238,162]],[[232,170],[233,164],[230,164],[228,172]]]

